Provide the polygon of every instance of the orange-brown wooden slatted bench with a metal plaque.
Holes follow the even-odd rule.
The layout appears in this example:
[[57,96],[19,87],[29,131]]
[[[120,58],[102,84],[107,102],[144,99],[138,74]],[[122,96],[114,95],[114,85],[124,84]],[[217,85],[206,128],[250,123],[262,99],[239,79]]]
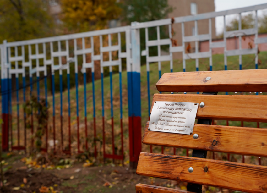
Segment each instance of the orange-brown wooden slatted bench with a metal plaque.
[[[156,87],[161,92],[203,94],[154,94],[151,110],[155,101],[204,102],[204,107],[198,106],[198,124],[194,125],[192,135],[150,131],[147,123],[144,144],[193,149],[193,153],[186,157],[141,152],[136,174],[188,182],[188,192],[201,193],[202,185],[267,192],[266,166],[206,159],[207,151],[267,157],[267,129],[211,125],[211,119],[266,123],[267,96],[216,94],[267,92],[267,69],[165,73]],[[193,137],[194,134],[198,137]],[[137,184],[136,192],[186,191]]]

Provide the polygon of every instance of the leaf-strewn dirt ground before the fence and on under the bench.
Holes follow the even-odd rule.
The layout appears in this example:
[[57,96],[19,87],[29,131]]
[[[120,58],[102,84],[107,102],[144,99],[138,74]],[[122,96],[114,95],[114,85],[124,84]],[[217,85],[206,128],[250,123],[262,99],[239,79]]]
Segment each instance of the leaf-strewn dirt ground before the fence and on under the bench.
[[[10,154],[10,153],[9,153]],[[42,154],[47,155],[47,154]],[[37,157],[37,156],[36,156]],[[56,156],[50,157],[51,160]],[[91,163],[89,160],[69,157],[63,165],[46,164],[25,154],[4,158],[4,184],[0,183],[3,193],[135,193],[138,183],[164,186],[186,190],[187,183],[158,179],[136,174],[128,164]],[[40,160],[40,159],[39,159]],[[68,162],[66,161],[68,160]],[[71,161],[69,161],[71,160]],[[111,161],[111,160],[110,160]],[[38,165],[40,163],[40,165]],[[63,162],[58,162],[63,163]],[[41,165],[43,164],[43,165]],[[202,193],[242,193],[228,189],[202,186]]]

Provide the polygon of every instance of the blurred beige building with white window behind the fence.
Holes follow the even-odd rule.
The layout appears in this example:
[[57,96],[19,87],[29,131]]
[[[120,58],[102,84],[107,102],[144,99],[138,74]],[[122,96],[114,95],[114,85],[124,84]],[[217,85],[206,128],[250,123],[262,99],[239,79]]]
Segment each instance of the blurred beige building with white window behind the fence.
[[[168,15],[169,18],[172,17],[182,17],[188,15],[196,15],[196,14],[203,14],[208,12],[215,11],[215,4],[214,0],[168,0],[168,4],[173,8],[172,13]],[[201,34],[208,34],[209,33],[209,20],[199,20],[198,23],[198,35]],[[173,30],[175,35],[173,39],[177,40],[178,46],[182,45],[182,26],[181,24],[174,24]],[[212,31],[212,38],[216,37],[215,34],[215,18],[211,20],[211,31]],[[195,35],[195,23],[185,22],[184,23],[184,32],[185,36],[193,36]],[[185,44],[185,47],[188,47],[190,43],[190,52],[195,52],[195,42],[188,42]],[[182,58],[182,53],[173,53],[173,59]]]

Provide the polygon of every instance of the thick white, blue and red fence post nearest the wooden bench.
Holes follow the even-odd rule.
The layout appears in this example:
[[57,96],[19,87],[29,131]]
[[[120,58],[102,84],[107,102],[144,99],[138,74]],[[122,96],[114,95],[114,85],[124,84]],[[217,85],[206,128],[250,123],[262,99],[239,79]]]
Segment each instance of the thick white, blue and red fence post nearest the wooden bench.
[[[138,25],[132,22],[131,26]],[[140,33],[131,29],[132,66],[127,70],[129,109],[130,167],[136,168],[142,149],[141,142],[141,80],[140,80]]]

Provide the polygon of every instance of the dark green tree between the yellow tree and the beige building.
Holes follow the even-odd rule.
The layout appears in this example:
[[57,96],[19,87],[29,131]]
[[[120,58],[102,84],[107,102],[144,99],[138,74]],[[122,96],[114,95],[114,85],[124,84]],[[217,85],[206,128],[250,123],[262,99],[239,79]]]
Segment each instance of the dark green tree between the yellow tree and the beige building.
[[[131,22],[146,22],[154,21],[158,19],[164,19],[167,15],[173,11],[173,8],[168,5],[167,0],[151,0],[151,1],[123,1],[121,4],[122,7],[122,20],[126,22],[127,25],[130,25]],[[151,27],[148,29],[149,40],[157,39],[157,29]],[[168,29],[166,26],[160,27],[160,38],[168,38]],[[145,49],[145,31],[144,29],[140,30],[140,46],[141,51]],[[166,50],[166,46],[161,47],[163,50]],[[157,47],[149,48],[149,55],[156,56],[158,53]],[[141,63],[145,63],[145,57],[141,57]]]

